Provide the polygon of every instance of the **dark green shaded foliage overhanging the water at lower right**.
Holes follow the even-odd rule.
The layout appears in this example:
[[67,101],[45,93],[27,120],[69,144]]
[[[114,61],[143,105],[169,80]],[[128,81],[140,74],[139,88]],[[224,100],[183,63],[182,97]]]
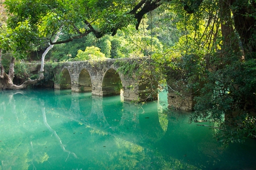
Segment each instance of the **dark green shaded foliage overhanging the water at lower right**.
[[252,117],[256,104],[256,81],[253,76],[256,74],[256,62],[254,59],[240,61],[237,58],[231,53],[229,62],[214,57],[214,66],[218,69],[204,72],[199,95],[195,97],[195,112],[191,117],[191,121],[219,122],[221,130],[217,131],[216,138],[225,146],[255,138],[256,135],[255,119]]

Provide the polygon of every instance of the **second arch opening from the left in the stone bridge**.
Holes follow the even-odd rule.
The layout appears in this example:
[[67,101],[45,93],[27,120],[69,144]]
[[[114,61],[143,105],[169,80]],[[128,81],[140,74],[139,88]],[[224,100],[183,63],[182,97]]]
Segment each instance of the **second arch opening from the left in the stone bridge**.
[[92,91],[92,79],[86,69],[82,69],[79,74],[79,92]]

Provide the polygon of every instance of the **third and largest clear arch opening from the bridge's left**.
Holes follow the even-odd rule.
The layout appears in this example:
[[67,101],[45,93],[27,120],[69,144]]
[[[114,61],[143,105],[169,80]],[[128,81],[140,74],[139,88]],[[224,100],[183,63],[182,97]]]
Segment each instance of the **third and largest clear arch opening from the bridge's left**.
[[103,96],[120,95],[122,89],[122,82],[119,74],[114,69],[106,71],[102,81]]

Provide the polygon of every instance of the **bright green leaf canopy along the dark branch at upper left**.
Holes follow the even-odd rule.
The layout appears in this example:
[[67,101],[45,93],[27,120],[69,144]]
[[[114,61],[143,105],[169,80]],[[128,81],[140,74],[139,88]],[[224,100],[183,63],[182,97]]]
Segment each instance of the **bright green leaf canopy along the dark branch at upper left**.
[[60,28],[63,31],[60,40],[65,41],[90,32],[100,37],[113,32],[115,27],[134,23],[134,16],[127,15],[134,2],[6,0],[5,5],[10,14],[5,42],[10,40],[13,43],[10,48],[20,55],[51,42]]

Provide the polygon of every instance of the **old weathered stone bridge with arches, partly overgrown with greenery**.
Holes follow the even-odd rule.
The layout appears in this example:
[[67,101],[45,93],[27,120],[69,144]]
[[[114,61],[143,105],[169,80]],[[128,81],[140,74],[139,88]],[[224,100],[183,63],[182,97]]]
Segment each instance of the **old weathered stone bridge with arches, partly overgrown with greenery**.
[[[72,92],[92,92],[94,96],[120,95],[126,101],[158,99],[158,83],[150,81],[141,73],[123,74],[123,65],[147,61],[144,58],[117,58],[102,61],[78,61],[59,63],[55,71],[55,89],[71,89]],[[146,75],[148,76],[148,75]],[[152,80],[152,79],[151,79]],[[168,92],[171,108],[191,111],[193,98],[177,96]]]

